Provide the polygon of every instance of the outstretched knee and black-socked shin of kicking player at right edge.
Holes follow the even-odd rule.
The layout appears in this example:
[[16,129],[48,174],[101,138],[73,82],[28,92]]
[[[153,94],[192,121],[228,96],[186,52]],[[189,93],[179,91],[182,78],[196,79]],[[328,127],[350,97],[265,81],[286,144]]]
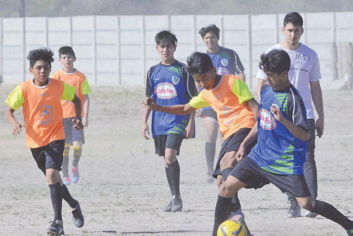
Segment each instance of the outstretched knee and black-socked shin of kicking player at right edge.
[[[324,201],[315,200],[312,196],[296,197],[299,204],[306,210],[319,214],[337,224],[345,230],[353,230],[353,221],[344,216],[335,207]],[[351,232],[348,232],[350,234]]]

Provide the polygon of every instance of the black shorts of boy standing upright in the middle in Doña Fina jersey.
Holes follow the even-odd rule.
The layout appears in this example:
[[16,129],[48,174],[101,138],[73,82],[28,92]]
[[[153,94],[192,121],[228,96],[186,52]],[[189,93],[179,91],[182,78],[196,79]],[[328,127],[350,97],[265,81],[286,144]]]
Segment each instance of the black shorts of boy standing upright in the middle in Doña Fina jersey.
[[170,148],[177,150],[177,155],[179,155],[180,146],[185,139],[184,135],[179,134],[168,134],[168,135],[158,135],[153,138],[155,140],[155,149],[158,156],[165,155],[165,148]]

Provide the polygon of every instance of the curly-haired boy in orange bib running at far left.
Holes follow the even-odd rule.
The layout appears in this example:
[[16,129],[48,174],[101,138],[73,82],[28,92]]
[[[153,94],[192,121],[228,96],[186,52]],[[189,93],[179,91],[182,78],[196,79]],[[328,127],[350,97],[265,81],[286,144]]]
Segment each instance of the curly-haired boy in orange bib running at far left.
[[[50,188],[54,220],[50,222],[47,234],[63,235],[62,199],[72,208],[73,222],[78,228],[83,226],[84,220],[78,201],[63,185],[59,174],[65,145],[61,99],[74,103],[74,128],[82,130],[83,125],[81,103],[75,95],[75,88],[48,78],[51,63],[54,61],[53,55],[54,53],[45,47],[28,53],[29,71],[34,78],[18,85],[7,97],[5,102],[8,109],[5,111],[5,117],[12,126],[13,136],[21,134],[22,128],[26,127],[26,144]],[[13,115],[20,106],[23,106],[25,124],[20,124]]]

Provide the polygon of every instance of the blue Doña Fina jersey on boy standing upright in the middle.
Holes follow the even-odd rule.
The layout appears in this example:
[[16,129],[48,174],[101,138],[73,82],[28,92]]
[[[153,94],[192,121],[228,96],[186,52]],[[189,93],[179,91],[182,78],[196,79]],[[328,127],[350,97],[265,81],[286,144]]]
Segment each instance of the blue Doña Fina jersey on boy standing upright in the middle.
[[[152,66],[147,73],[146,96],[155,98],[157,105],[186,104],[197,95],[194,78],[185,71],[185,64],[161,63]],[[173,115],[152,112],[152,137],[167,134],[185,135],[190,115]],[[195,137],[195,134],[194,134]]]

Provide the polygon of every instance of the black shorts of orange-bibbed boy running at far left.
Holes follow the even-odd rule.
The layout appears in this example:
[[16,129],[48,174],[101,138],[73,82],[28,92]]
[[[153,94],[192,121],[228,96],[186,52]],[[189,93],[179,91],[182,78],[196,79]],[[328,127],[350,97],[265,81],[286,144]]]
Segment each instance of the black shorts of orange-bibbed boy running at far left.
[[45,170],[49,168],[61,171],[64,146],[64,140],[55,140],[48,145],[31,148],[32,156],[36,160],[38,168],[44,173],[44,175]]

